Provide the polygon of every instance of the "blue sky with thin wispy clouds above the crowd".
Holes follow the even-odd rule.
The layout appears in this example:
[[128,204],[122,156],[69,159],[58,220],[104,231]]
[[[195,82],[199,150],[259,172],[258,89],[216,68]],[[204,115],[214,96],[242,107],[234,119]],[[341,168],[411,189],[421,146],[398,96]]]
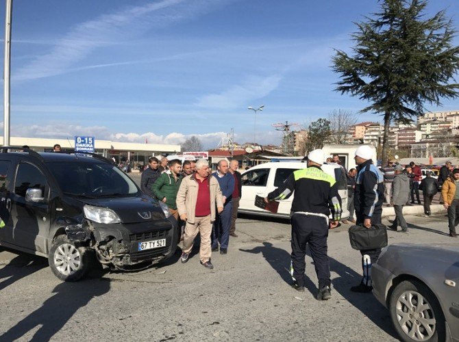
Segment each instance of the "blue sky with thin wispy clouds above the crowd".
[[[4,6],[1,18],[5,17]],[[366,103],[334,92],[334,49],[376,0],[14,0],[11,135],[215,147],[233,128],[280,144],[271,124],[307,125]],[[458,0],[431,0],[459,23]],[[4,25],[1,25],[1,37]],[[455,44],[459,39],[455,38]],[[443,101],[436,110],[459,109]],[[3,109],[2,109],[3,110]],[[361,114],[358,120],[380,120]]]

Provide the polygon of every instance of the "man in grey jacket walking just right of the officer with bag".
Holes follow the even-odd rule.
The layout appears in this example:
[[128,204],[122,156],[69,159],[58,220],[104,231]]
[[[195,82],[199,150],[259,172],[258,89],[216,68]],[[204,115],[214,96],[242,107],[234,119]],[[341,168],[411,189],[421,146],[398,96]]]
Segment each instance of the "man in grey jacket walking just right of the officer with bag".
[[390,199],[390,202],[392,202],[395,210],[395,220],[392,226],[389,226],[388,228],[393,231],[397,231],[397,226],[400,226],[403,233],[408,233],[408,224],[406,224],[402,211],[410,194],[410,179],[408,179],[408,176],[403,172],[403,170],[404,168],[401,165],[395,166],[395,177],[392,184],[392,197]]

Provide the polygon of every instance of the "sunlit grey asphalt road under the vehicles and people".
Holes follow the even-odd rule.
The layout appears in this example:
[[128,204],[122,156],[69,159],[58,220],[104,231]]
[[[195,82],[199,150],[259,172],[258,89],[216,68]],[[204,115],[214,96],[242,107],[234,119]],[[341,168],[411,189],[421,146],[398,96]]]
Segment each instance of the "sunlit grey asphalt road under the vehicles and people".
[[[408,216],[410,233],[389,243],[453,242],[444,214]],[[387,224],[388,221],[384,220]],[[395,341],[386,309],[360,281],[360,253],[347,228],[330,231],[332,299],[314,299],[317,278],[307,257],[307,291],[290,287],[290,225],[241,217],[227,255],[215,268],[173,259],[142,272],[101,272],[60,282],[47,260],[0,252],[0,341]]]

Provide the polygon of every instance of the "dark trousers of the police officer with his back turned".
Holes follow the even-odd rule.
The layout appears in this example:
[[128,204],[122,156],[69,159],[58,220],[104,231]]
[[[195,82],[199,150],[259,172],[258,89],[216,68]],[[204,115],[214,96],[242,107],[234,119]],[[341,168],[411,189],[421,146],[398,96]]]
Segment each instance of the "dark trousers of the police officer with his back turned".
[[298,286],[304,286],[306,269],[306,244],[309,244],[314,261],[319,289],[330,286],[330,260],[327,257],[328,225],[325,218],[293,213],[292,224],[292,265],[290,272]]

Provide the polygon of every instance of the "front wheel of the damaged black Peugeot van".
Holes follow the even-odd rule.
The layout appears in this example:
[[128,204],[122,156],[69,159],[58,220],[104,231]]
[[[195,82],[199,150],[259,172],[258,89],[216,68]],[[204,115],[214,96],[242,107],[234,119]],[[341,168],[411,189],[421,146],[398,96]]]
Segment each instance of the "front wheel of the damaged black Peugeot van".
[[78,246],[66,235],[58,236],[49,250],[49,267],[60,280],[77,281],[88,272],[88,248]]

